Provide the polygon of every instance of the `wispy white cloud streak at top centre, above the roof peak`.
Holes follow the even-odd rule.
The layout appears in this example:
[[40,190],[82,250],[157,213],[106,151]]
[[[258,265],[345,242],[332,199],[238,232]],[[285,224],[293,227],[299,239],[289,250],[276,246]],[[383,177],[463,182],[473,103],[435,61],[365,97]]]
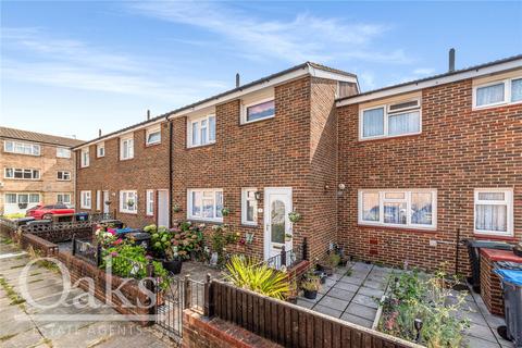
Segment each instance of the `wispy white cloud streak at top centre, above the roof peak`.
[[219,40],[233,45],[236,54],[264,57],[291,63],[364,59],[391,63],[408,62],[401,50],[375,52],[369,44],[388,30],[382,24],[346,23],[302,13],[290,21],[261,20],[217,2],[150,1],[129,2],[137,14],[202,28]]

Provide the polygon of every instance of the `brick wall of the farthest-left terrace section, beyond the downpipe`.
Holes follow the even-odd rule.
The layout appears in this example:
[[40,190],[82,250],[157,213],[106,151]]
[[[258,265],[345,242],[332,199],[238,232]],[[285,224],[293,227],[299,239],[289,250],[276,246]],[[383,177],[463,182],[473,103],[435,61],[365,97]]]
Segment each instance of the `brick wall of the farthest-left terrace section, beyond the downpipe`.
[[[169,189],[169,124],[161,126],[161,144],[146,146],[145,136],[145,128],[134,132],[134,159],[130,160],[120,160],[120,138],[104,141],[105,156],[102,158],[96,157],[96,145],[91,145],[88,167],[79,167],[80,154],[79,150],[76,151],[77,210],[86,211],[80,209],[80,190],[92,191],[90,212],[96,212],[96,190],[109,190],[112,201],[110,212],[115,212],[117,219],[133,227],[156,223],[157,211],[154,216],[146,215],[146,190]],[[137,214],[120,212],[120,190],[138,191]],[[103,209],[103,202],[101,206]]]

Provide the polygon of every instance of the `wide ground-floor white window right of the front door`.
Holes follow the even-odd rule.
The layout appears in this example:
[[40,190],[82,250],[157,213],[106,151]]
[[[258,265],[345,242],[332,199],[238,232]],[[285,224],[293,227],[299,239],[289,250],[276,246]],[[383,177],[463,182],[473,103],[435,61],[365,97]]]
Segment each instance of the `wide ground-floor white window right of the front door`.
[[361,225],[437,227],[437,191],[433,189],[363,189],[358,201]]

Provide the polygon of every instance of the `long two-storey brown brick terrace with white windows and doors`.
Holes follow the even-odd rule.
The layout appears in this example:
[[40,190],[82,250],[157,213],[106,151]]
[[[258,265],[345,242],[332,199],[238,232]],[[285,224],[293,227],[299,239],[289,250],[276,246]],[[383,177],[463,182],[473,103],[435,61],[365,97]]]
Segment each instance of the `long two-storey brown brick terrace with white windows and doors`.
[[455,265],[458,236],[522,238],[521,100],[522,55],[370,92],[304,63],[75,148],[77,206],[226,223],[263,258],[308,237],[312,258]]

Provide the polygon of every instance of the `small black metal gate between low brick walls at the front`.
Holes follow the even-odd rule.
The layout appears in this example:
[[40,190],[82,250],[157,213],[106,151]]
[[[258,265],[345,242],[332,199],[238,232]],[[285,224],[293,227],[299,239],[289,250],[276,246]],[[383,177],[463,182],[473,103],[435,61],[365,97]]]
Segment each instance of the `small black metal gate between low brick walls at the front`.
[[184,282],[179,277],[170,277],[165,289],[156,293],[156,323],[173,338],[183,333]]

